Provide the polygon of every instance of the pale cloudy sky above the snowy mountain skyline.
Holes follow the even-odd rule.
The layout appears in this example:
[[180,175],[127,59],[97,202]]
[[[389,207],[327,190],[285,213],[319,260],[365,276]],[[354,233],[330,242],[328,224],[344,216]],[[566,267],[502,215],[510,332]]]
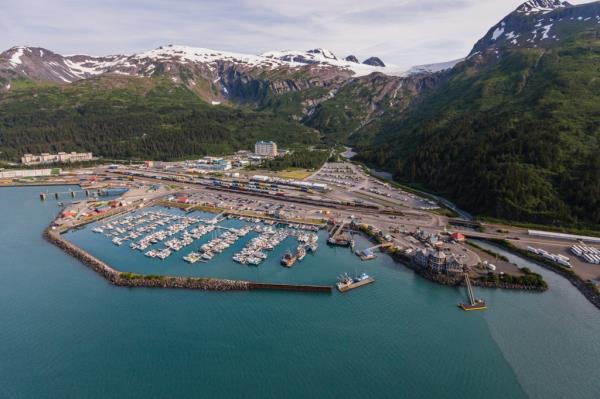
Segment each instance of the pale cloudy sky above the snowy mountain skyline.
[[523,1],[0,0],[0,51],[30,45],[107,55],[184,44],[260,54],[323,47],[411,66],[464,57]]

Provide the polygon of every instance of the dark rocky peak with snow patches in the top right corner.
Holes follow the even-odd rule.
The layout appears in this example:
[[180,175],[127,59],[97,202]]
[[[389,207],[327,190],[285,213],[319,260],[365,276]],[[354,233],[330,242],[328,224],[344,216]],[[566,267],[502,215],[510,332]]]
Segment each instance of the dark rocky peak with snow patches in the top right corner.
[[560,0],[529,0],[493,26],[469,57],[504,46],[549,47],[576,28],[600,26],[600,2],[572,5]]

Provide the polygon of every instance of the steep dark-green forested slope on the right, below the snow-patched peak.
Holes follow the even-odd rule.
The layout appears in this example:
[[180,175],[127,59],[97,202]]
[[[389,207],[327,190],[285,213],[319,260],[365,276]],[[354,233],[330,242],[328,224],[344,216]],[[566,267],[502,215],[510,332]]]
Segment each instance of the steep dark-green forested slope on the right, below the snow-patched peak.
[[547,48],[472,57],[382,120],[362,159],[480,215],[600,224],[599,33],[561,33]]

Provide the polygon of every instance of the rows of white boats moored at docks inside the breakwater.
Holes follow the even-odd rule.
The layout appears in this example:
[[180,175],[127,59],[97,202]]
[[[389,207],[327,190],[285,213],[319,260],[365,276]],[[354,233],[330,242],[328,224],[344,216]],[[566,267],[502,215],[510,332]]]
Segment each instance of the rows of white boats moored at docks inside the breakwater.
[[[191,265],[211,262],[249,235],[252,238],[231,255],[235,263],[259,266],[283,241],[293,240],[294,256],[281,262],[289,268],[319,248],[318,229],[314,226],[235,215],[189,214],[161,207],[109,218],[88,229],[98,239],[110,239],[117,247],[128,243],[131,250],[142,252],[146,258],[165,261],[177,254],[177,258]],[[187,252],[188,248],[191,251]]]

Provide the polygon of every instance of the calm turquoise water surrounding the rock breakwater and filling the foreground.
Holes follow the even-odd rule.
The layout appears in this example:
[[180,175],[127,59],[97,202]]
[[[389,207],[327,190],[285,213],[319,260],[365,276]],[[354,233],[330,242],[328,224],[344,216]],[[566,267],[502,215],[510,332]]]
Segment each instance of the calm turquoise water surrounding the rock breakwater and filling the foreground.
[[465,313],[456,308],[461,290],[386,256],[360,262],[323,240],[316,256],[288,270],[277,253],[259,268],[231,262],[228,252],[188,265],[181,254],[146,259],[89,228],[70,234],[123,270],[318,284],[365,270],[377,280],[344,295],[113,287],[42,239],[58,208],[38,192],[0,189],[0,397],[593,398],[600,391],[600,313],[544,270],[547,293],[479,290],[490,309]]

